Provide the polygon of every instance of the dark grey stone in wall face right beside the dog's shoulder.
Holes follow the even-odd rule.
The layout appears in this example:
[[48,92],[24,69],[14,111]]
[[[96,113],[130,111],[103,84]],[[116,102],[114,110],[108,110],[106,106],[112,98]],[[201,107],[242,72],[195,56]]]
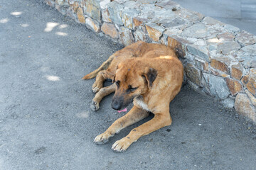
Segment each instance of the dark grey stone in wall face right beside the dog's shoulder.
[[188,63],[185,65],[184,70],[186,72],[186,77],[190,81],[198,86],[201,86],[202,72],[200,69],[197,69],[193,64]]

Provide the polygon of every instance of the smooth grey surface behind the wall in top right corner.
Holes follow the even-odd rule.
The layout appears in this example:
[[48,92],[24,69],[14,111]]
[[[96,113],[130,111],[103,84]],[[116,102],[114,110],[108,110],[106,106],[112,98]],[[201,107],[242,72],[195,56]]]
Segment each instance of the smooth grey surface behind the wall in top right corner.
[[173,0],[184,8],[256,35],[255,0]]

